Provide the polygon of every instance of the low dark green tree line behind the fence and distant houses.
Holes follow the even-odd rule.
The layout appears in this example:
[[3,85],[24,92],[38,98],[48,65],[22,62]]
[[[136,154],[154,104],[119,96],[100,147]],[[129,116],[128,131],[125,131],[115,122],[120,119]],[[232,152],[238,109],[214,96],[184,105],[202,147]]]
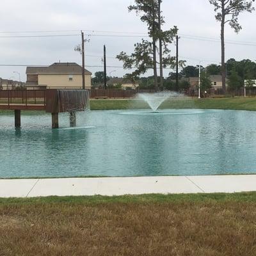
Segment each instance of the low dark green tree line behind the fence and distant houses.
[[[211,88],[211,77],[210,76],[221,76],[221,65],[210,64],[207,66],[201,66],[201,86],[202,90],[208,90]],[[227,77],[226,84],[230,89],[238,89],[244,86],[244,81],[248,81],[246,86],[252,86],[254,83],[250,81],[256,80],[256,63],[252,60],[241,60],[236,61],[235,59],[230,59],[225,63],[225,72]],[[169,76],[163,78],[163,88],[165,90],[188,90],[191,84],[189,83],[189,77],[199,77],[199,65],[193,66],[189,65],[182,70],[179,74],[179,84],[177,88],[176,84],[176,73],[170,72]],[[107,77],[108,80],[113,77]],[[128,79],[127,77],[124,78]],[[93,86],[100,86],[104,83],[104,72],[95,72],[95,76],[92,78]],[[134,83],[139,84],[140,89],[155,89],[155,77],[138,77]],[[157,83],[160,83],[160,76],[157,76]],[[121,88],[121,86],[116,86],[116,88]]]

